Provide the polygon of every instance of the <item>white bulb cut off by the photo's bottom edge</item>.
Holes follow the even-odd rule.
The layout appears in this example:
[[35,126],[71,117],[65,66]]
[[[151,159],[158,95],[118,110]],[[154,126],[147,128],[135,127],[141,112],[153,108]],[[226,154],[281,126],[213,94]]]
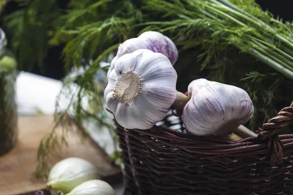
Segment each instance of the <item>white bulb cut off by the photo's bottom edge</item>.
[[95,179],[85,181],[66,195],[116,195],[116,193],[107,182]]

